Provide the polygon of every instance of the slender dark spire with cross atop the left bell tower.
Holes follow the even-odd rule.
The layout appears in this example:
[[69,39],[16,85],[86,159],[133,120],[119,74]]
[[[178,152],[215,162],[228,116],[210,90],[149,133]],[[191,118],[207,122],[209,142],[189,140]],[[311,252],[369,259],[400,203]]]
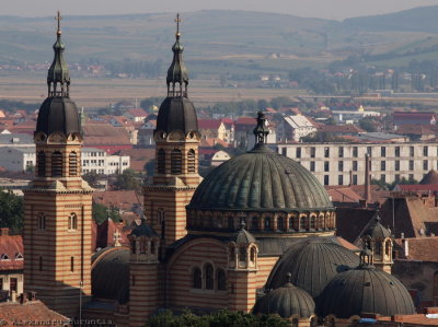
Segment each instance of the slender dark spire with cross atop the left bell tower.
[[64,60],[62,55],[66,47],[61,40],[62,32],[60,28],[60,21],[62,20],[62,17],[59,11],[58,14],[55,16],[55,20],[58,21],[58,28],[56,31],[56,43],[53,46],[55,57],[50,68],[48,69],[47,74],[48,96],[68,97],[70,86],[70,72],[66,61]]

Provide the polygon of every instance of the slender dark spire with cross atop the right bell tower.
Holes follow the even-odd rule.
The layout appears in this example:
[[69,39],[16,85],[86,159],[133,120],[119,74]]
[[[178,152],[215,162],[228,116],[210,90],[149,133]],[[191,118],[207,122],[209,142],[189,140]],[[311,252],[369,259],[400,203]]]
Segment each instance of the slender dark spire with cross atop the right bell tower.
[[[180,33],[180,14],[176,14],[175,19],[176,23],[176,33],[175,33],[175,44],[172,47],[173,51],[173,61],[171,67],[168,70],[168,96],[169,97],[187,97],[187,85],[188,85],[188,72],[185,68],[183,61],[183,50],[184,47],[180,43],[181,33]],[[183,87],[184,84],[184,87]]]

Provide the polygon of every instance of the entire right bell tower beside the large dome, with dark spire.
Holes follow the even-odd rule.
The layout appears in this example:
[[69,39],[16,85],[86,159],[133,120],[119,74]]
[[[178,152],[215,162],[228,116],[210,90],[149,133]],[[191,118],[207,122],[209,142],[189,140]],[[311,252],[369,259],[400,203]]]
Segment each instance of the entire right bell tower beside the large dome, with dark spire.
[[157,118],[155,171],[145,191],[145,214],[160,235],[163,246],[186,234],[185,206],[199,184],[199,132],[196,110],[188,98],[188,72],[180,43],[180,14],[176,15],[173,61],[168,70],[168,96]]

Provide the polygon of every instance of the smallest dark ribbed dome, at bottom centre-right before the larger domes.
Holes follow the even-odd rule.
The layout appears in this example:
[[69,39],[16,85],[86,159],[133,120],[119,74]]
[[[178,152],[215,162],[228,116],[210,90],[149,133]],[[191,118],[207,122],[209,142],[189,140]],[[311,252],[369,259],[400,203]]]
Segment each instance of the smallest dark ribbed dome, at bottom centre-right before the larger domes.
[[278,314],[284,318],[298,315],[309,318],[314,314],[315,303],[308,292],[287,282],[257,300],[253,314]]

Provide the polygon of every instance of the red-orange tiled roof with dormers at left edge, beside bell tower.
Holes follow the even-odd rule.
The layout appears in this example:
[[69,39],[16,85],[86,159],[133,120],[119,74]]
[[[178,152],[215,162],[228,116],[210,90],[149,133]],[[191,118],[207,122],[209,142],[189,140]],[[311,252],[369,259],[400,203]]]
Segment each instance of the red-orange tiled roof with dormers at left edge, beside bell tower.
[[[4,255],[9,259],[4,258]],[[21,235],[1,235],[0,236],[0,270],[22,270],[23,258],[23,237]]]

